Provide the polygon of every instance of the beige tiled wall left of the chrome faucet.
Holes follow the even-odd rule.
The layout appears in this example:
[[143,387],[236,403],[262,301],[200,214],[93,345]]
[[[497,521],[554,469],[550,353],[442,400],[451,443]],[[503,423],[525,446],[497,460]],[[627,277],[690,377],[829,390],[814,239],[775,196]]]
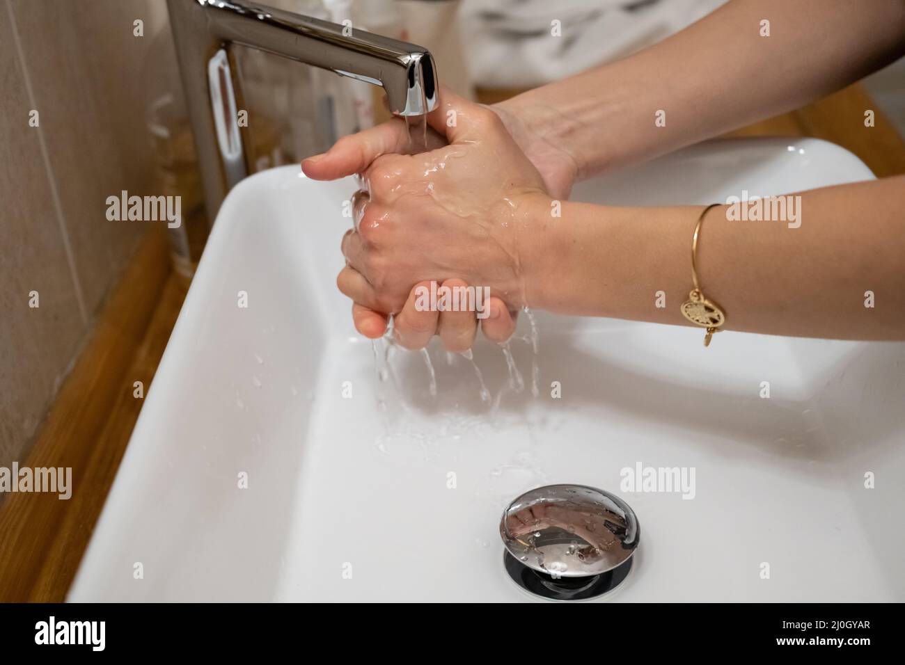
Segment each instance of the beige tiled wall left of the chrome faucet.
[[164,0],[0,0],[0,466],[24,460],[148,231],[106,198],[152,182],[141,71],[165,23]]

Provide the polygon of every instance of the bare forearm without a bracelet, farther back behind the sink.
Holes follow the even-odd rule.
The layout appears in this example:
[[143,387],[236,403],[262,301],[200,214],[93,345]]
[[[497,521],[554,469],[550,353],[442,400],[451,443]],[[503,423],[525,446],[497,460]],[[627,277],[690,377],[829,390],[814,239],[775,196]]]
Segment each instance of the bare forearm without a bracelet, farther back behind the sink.
[[580,179],[798,108],[903,52],[901,0],[734,0],[643,52],[500,107],[566,150]]

